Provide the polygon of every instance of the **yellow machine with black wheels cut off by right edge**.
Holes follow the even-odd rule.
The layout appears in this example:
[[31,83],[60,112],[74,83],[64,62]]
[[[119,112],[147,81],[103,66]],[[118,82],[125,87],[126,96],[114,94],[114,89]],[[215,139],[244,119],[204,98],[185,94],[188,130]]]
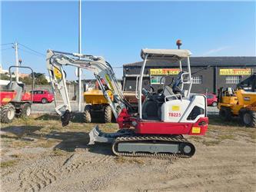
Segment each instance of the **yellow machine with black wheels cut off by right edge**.
[[256,127],[256,92],[220,88],[218,108],[222,120],[230,121],[232,116],[239,116],[247,127]]

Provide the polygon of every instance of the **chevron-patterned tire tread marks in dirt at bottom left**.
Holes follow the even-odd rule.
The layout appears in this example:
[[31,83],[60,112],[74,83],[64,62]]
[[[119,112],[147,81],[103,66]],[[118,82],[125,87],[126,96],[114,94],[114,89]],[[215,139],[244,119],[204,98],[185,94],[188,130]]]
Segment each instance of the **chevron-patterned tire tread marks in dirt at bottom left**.
[[48,161],[47,164],[44,163],[44,166],[40,162],[37,162],[20,172],[18,176],[20,180],[19,187],[24,191],[42,190],[55,182],[55,180],[58,180],[58,177],[63,177],[65,172],[71,173],[71,171],[79,170],[88,164],[105,164],[108,161],[113,161],[113,159],[114,157],[112,155],[71,154],[66,158],[60,170],[53,168],[51,161]]

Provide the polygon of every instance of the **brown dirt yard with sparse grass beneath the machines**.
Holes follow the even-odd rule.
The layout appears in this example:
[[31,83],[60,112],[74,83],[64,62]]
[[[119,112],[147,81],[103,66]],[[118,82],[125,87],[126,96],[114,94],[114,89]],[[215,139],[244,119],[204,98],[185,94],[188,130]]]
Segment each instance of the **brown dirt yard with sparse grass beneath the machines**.
[[188,137],[197,148],[189,159],[115,157],[107,144],[87,146],[95,124],[78,122],[41,114],[2,124],[1,191],[256,190],[256,130],[236,120],[210,117],[205,136]]

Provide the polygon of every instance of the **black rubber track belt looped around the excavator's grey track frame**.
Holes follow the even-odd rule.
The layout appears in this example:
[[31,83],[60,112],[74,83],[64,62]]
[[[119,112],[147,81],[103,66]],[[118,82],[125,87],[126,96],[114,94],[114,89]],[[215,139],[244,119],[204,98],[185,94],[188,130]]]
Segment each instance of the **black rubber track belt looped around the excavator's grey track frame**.
[[[181,137],[165,137],[165,136],[134,136],[134,137],[117,137],[115,139],[115,143],[112,144],[112,151],[117,156],[131,156],[131,157],[182,157],[189,158],[192,157],[190,155],[185,154],[169,154],[169,153],[161,153],[161,154],[151,154],[151,153],[128,153],[128,152],[118,152],[117,146],[120,142],[129,142],[129,141],[168,141],[168,142],[178,142],[178,143],[189,143],[187,139]],[[192,144],[193,145],[193,144]],[[193,145],[194,146],[194,145]]]

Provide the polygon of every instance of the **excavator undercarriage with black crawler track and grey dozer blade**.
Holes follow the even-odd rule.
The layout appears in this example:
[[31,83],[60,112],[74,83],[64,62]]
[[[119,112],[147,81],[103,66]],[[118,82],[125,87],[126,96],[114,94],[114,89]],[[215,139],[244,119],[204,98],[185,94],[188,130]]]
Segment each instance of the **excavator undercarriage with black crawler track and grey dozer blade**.
[[131,129],[104,133],[95,127],[89,136],[89,144],[110,143],[113,153],[118,156],[192,157],[195,152],[194,145],[182,135],[135,134]]

